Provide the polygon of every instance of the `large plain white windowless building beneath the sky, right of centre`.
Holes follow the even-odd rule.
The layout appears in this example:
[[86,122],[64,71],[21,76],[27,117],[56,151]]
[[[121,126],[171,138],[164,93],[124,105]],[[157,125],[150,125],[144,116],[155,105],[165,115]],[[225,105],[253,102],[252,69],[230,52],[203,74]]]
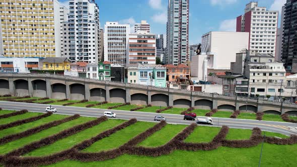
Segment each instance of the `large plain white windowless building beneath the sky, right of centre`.
[[246,32],[211,31],[202,35],[201,55],[192,57],[192,76],[205,80],[210,72],[230,70],[230,62],[236,60],[236,53],[246,51],[248,43],[249,33]]

